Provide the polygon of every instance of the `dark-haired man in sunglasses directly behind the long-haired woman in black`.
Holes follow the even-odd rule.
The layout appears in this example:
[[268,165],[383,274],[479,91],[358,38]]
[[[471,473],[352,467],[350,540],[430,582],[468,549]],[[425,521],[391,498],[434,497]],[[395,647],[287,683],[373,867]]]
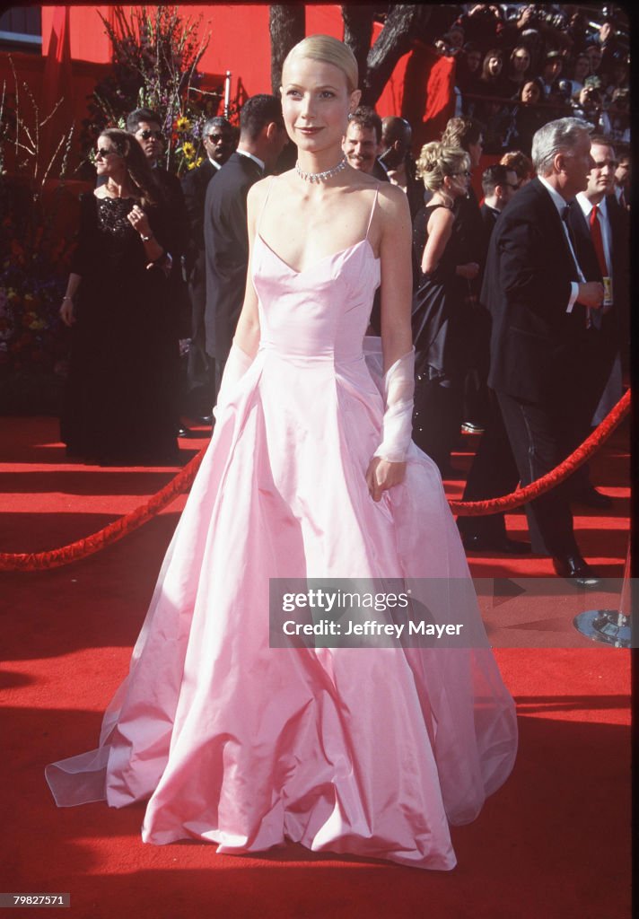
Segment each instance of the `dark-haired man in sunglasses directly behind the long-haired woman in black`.
[[[168,228],[171,232],[171,238],[168,240],[168,251],[173,260],[168,283],[171,288],[171,298],[175,304],[177,348],[177,339],[188,338],[188,335],[190,335],[190,303],[188,301],[186,281],[182,274],[182,256],[187,251],[190,235],[184,194],[177,176],[174,176],[164,166],[160,165],[160,157],[165,150],[165,141],[159,116],[150,108],[136,108],[127,115],[126,127],[129,133],[135,136],[149,165],[153,168],[155,180],[165,199],[166,210],[168,211]],[[174,414],[176,416],[177,437],[188,437],[190,434],[188,427],[182,425],[179,420],[181,408],[180,390],[183,388],[180,384],[180,369],[178,366],[175,369],[167,368],[167,372],[174,373],[176,378]]]

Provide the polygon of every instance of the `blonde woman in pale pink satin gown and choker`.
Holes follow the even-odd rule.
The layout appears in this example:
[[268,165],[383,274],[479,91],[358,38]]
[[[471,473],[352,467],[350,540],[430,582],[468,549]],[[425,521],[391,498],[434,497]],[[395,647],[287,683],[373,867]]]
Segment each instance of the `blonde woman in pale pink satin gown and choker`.
[[[60,806],[148,799],[146,842],[448,869],[449,823],[512,768],[514,706],[455,589],[472,582],[439,473],[410,442],[410,216],[343,162],[355,58],[314,36],[282,83],[299,161],[249,193],[211,445],[100,745],[47,778]],[[381,277],[380,346],[364,336]],[[306,577],[399,581],[431,608],[425,585],[444,584],[469,646],[270,647],[269,579]]]

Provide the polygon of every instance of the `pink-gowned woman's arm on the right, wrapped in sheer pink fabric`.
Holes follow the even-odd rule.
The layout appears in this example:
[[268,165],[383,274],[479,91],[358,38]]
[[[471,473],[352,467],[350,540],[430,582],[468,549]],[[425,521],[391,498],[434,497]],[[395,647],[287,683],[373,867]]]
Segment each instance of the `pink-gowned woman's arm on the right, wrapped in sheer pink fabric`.
[[382,352],[386,406],[382,444],[366,473],[373,501],[404,480],[405,450],[410,443],[413,405],[413,294],[411,221],[401,188],[380,189],[380,258],[382,262]]

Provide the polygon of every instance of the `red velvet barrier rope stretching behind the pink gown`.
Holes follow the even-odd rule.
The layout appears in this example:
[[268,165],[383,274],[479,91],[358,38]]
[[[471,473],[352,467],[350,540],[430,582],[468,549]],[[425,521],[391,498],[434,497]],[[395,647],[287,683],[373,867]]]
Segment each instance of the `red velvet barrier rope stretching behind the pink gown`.
[[[491,498],[489,501],[451,501],[451,511],[460,516],[484,516],[495,514],[496,511],[513,510],[515,507],[526,504],[532,498],[550,491],[559,482],[563,482],[569,475],[578,469],[595,453],[605,440],[610,437],[614,429],[622,423],[623,418],[630,410],[630,390],[615,405],[610,414],[604,418],[599,427],[588,437],[581,446],[577,447],[556,469],[548,472],[531,482],[525,488],[517,489],[512,494],[501,498]],[[68,546],[54,549],[49,552],[0,552],[0,571],[46,571],[50,568],[59,568],[70,562],[77,562],[110,545],[118,539],[132,533],[134,529],[142,527],[177,497],[185,492],[195,479],[200,468],[202,457],[206,448],[202,448],[197,456],[193,457],[177,476],[168,482],[161,491],[154,494],[149,501],[136,507],[130,514],[121,516],[120,519],[109,523],[107,527],[94,533],[86,539],[77,539]]]

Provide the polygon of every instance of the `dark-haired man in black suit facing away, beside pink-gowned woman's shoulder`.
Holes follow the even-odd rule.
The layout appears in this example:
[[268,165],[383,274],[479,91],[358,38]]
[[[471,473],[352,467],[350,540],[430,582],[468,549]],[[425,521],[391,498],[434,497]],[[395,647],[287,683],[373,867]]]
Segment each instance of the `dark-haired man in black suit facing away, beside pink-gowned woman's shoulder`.
[[215,363],[215,394],[222,381],[244,301],[248,268],[246,196],[276,164],[288,142],[280,99],[251,96],[240,112],[237,150],[209,183],[204,204],[206,353]]

